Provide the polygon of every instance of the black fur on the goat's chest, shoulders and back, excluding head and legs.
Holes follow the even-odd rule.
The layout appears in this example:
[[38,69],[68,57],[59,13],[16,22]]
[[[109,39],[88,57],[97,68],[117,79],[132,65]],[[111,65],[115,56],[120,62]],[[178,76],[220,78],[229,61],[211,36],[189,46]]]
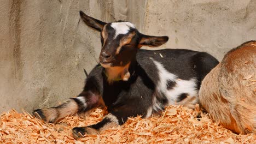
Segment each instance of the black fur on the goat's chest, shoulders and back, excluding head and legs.
[[[163,58],[159,56],[159,53]],[[218,63],[215,58],[205,52],[182,49],[138,50],[137,61],[134,61],[129,69],[131,73],[129,81],[108,83],[107,77],[103,73],[104,68],[96,66],[86,80],[84,92],[97,89],[98,93],[102,95],[108,111],[118,118],[119,124],[123,124],[130,116],[145,116],[148,107],[152,105],[153,95],[158,95],[155,89],[159,81],[158,69],[150,58],[161,62],[166,70],[177,75],[179,79],[190,80],[197,77],[199,83]],[[194,64],[197,68],[194,68]],[[166,67],[167,65],[168,67]],[[171,88],[176,83],[168,81],[166,85]],[[200,85],[197,86],[197,89],[199,87]],[[187,94],[181,94],[179,100],[184,99],[185,96],[187,97]],[[165,97],[159,101],[162,101],[163,106],[167,104]]]

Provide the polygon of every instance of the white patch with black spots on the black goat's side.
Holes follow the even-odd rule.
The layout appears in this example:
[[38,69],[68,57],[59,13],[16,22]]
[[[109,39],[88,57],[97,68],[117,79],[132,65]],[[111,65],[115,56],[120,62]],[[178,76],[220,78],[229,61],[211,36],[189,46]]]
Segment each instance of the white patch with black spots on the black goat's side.
[[[179,79],[176,75],[168,72],[164,68],[164,65],[155,61],[153,58],[150,58],[150,59],[152,59],[152,61],[156,65],[156,68],[158,68],[159,82],[156,86],[157,90],[160,94],[162,93],[162,97],[165,96],[168,99],[169,105],[183,104],[181,102],[177,103],[177,100],[179,99],[179,95],[181,95],[182,93],[188,93],[189,97],[196,97],[197,99],[198,92],[196,90],[196,80],[194,78],[190,80]],[[173,88],[168,89],[167,88],[168,81],[173,81],[176,83],[176,85]],[[195,101],[193,101],[193,103]],[[153,109],[154,107],[159,107],[159,103],[160,103],[159,101],[156,101],[156,98],[153,98]]]

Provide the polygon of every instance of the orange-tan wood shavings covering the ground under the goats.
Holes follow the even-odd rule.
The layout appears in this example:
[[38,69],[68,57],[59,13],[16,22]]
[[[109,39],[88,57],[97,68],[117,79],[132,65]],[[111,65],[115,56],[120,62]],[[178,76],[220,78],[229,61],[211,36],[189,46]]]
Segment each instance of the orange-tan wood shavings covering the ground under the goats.
[[236,135],[212,122],[200,111],[168,106],[159,116],[132,117],[117,128],[100,135],[74,140],[73,127],[100,122],[106,110],[95,109],[84,118],[68,116],[57,124],[44,123],[29,113],[4,112],[0,120],[0,143],[256,143],[256,135]]

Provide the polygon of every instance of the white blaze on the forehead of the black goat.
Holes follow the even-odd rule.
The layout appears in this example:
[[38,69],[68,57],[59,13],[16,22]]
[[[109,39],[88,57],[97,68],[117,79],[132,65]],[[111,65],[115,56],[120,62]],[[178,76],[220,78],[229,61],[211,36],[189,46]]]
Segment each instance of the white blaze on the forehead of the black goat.
[[135,28],[131,22],[112,22],[111,27],[115,29],[114,39],[117,38],[119,34],[127,34],[130,28]]

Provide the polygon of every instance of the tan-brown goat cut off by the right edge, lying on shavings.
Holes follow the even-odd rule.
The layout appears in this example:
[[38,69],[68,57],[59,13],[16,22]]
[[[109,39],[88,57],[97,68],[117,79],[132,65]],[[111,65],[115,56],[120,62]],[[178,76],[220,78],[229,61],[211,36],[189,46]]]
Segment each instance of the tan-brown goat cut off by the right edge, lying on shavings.
[[199,100],[234,133],[256,133],[256,41],[229,51],[202,81]]

